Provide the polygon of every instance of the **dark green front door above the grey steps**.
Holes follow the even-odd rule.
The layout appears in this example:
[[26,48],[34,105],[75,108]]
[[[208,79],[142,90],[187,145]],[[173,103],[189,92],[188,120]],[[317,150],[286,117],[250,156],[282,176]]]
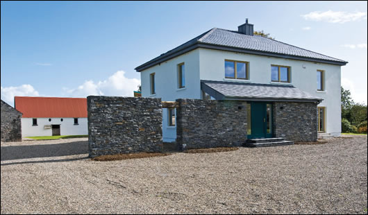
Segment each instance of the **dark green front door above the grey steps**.
[[248,139],[272,137],[272,104],[265,102],[251,102],[251,130]]

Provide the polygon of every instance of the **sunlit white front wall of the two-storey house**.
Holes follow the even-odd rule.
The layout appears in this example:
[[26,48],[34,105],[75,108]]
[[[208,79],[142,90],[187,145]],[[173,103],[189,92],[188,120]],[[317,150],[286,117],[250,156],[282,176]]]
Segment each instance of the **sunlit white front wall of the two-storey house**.
[[[271,65],[291,67],[291,83],[303,91],[323,98],[318,106],[326,107],[326,132],[334,136],[341,134],[341,67],[324,63],[288,60],[261,55],[199,49],[200,79],[238,81],[244,83],[274,84],[271,82]],[[249,80],[227,80],[224,78],[226,60],[249,62]],[[305,67],[305,68],[303,68]],[[317,91],[317,69],[325,71],[325,91]],[[275,83],[283,84],[283,83]]]

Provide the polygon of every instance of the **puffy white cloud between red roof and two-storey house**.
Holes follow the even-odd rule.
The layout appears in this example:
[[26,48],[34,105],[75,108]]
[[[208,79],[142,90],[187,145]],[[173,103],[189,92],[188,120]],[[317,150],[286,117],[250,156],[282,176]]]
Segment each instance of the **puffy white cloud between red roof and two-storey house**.
[[140,80],[137,78],[126,78],[125,71],[117,71],[108,79],[94,83],[93,80],[86,80],[83,85],[75,89],[63,88],[67,96],[86,97],[94,96],[133,96],[133,91],[137,90]]

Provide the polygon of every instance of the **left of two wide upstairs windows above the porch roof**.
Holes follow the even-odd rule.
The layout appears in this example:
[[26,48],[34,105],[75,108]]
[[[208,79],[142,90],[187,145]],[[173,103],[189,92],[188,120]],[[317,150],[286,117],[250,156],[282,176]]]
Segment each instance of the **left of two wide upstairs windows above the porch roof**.
[[249,80],[248,62],[225,60],[225,78]]

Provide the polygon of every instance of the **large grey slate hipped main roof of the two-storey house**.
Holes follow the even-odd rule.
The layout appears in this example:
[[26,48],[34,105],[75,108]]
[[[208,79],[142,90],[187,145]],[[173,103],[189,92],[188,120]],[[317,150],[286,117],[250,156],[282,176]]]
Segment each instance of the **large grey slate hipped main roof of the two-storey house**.
[[[229,31],[221,28],[212,28],[210,31],[195,37],[194,39],[185,42],[181,46],[176,47],[157,58],[153,58],[149,62],[136,67],[135,70],[143,71],[149,67],[153,67],[160,62],[164,62],[171,58],[192,51],[196,48],[220,49],[226,50],[237,49],[243,50],[244,53],[252,53],[258,55],[269,55],[280,58],[290,58],[296,60],[308,60],[312,62],[325,62],[335,65],[346,65],[346,61],[337,58],[332,58],[327,55],[322,55],[314,51],[301,49],[290,44],[271,40],[258,35],[245,35],[237,31]],[[246,52],[248,51],[248,52]]]

